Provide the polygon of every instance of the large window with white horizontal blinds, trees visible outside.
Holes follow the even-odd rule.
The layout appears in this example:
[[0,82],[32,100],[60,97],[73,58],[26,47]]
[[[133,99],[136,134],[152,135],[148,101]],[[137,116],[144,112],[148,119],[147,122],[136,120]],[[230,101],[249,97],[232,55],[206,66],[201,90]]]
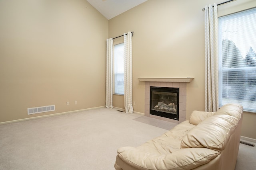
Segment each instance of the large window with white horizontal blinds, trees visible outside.
[[218,18],[219,105],[256,113],[256,8]]

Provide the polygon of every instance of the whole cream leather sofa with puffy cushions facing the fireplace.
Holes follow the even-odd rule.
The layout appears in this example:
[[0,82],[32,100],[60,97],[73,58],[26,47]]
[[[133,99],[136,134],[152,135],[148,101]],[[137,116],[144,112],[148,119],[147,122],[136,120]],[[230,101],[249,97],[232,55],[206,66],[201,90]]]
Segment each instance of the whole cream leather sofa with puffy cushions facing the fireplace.
[[118,149],[116,170],[234,170],[243,107],[193,111],[190,120],[139,147]]

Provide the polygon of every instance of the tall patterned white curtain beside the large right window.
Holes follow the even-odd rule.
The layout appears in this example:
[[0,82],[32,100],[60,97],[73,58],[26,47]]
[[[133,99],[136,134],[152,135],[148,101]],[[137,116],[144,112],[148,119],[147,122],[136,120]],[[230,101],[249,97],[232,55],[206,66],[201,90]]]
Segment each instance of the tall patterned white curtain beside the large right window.
[[205,111],[218,110],[218,12],[210,4],[204,10]]

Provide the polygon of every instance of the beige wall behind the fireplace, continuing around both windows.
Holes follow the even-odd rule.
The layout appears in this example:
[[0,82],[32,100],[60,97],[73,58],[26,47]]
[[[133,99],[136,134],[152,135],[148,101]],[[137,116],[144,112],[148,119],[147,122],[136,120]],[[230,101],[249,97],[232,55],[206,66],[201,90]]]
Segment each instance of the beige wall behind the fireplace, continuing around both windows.
[[[134,111],[144,113],[144,82],[138,77],[194,77],[187,84],[187,115],[204,110],[204,12],[206,4],[223,0],[148,0],[109,20],[109,37],[134,31]],[[232,5],[231,5],[232,4]],[[220,14],[256,6],[255,0],[237,0],[218,7]],[[232,9],[230,9],[230,8]],[[113,104],[121,107],[122,96]],[[245,113],[242,135],[256,139],[255,113]]]

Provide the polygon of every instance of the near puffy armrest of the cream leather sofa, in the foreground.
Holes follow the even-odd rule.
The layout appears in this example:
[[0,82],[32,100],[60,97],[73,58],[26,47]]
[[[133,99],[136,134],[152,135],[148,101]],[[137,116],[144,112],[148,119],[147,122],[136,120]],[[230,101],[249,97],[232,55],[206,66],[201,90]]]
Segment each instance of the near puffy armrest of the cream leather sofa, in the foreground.
[[118,149],[118,156],[127,164],[142,170],[193,169],[210,162],[220,152],[207,148],[186,148],[170,154],[153,154],[134,147]]

